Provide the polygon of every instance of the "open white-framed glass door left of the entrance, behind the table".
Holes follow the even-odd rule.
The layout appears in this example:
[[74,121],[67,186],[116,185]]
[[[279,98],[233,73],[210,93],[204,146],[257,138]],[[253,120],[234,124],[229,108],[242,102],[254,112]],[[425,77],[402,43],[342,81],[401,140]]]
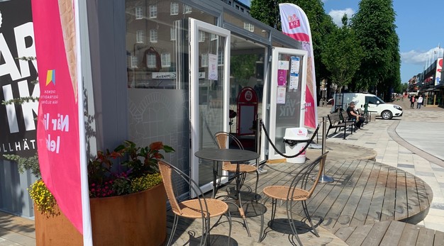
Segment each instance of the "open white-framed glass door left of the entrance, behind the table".
[[191,177],[206,192],[212,189],[213,164],[194,153],[216,148],[214,134],[229,131],[230,31],[190,18],[189,39]]

